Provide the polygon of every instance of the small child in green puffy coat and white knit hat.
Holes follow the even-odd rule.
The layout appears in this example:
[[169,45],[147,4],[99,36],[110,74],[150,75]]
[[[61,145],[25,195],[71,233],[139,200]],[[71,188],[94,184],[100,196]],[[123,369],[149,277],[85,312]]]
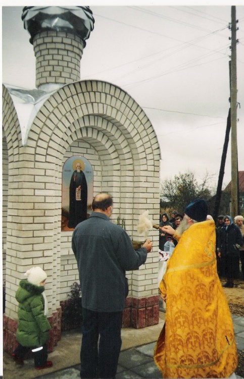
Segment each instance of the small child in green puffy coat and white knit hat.
[[27,279],[20,281],[16,292],[18,308],[18,328],[16,340],[18,346],[12,356],[16,363],[23,365],[24,357],[31,348],[35,368],[40,370],[52,367],[52,361],[47,361],[46,342],[51,325],[47,320],[48,304],[44,294],[46,273],[40,267],[32,267],[26,271]]

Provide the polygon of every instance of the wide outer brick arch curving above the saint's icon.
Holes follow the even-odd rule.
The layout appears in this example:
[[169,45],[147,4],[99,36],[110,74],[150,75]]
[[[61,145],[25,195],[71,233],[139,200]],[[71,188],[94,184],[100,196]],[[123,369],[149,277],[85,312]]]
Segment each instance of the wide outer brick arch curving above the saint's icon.
[[[39,159],[39,153],[44,154],[44,150],[48,159],[53,160],[62,148],[63,137],[68,137],[72,131],[70,128],[72,129],[74,122],[85,116],[95,115],[110,121],[110,124],[123,132],[138,161],[139,158],[144,159],[151,154],[150,161],[154,164],[154,157],[160,155],[160,149],[148,117],[125,91],[101,81],[68,84],[45,102],[32,125],[35,131],[39,128],[35,134],[36,160]],[[32,131],[29,136],[33,136]],[[143,161],[143,169],[147,169],[147,161]],[[140,166],[141,163],[138,169]]]

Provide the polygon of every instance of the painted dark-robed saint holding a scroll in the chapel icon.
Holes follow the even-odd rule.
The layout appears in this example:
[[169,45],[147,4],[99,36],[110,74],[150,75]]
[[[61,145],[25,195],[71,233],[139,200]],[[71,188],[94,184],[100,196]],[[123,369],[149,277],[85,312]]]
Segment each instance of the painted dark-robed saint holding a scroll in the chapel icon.
[[69,200],[68,227],[75,228],[87,218],[87,182],[79,162],[70,179]]

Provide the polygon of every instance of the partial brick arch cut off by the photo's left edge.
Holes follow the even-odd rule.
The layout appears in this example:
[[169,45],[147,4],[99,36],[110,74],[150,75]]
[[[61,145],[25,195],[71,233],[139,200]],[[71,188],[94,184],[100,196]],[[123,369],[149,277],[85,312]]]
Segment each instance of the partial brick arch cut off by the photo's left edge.
[[18,115],[9,94],[8,89],[3,84],[3,130],[7,141],[9,163],[19,160],[19,149],[21,147],[21,129]]

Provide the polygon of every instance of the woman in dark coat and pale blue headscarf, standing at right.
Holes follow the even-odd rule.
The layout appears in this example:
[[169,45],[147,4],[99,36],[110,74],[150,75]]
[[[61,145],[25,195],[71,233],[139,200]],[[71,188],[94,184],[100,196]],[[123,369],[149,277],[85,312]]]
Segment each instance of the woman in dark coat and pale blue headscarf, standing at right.
[[242,235],[230,216],[224,216],[225,225],[219,230],[218,256],[221,258],[220,274],[227,278],[223,287],[233,288],[234,278],[239,277],[240,246]]

